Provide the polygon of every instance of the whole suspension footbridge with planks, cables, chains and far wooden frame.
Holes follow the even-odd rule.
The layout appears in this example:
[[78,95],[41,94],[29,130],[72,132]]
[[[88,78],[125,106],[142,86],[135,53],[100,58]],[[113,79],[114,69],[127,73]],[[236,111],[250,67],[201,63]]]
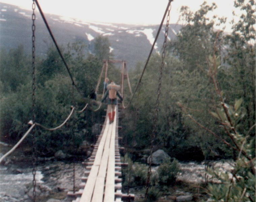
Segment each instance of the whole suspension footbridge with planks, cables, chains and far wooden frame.
[[[154,117],[154,125],[156,128],[156,119],[157,119],[157,112],[158,112],[158,105],[159,105],[159,96],[160,96],[160,88],[161,88],[161,77],[162,77],[162,68],[164,66],[164,58],[165,58],[165,47],[166,47],[166,39],[167,39],[167,34],[168,34],[168,25],[169,25],[169,13],[170,13],[170,3],[172,0],[168,1],[162,22],[159,26],[157,35],[155,37],[154,43],[152,45],[152,48],[150,50],[150,54],[149,57],[146,61],[145,67],[142,71],[141,77],[138,81],[138,84],[135,88],[134,93],[132,94],[132,90],[131,90],[131,86],[130,86],[130,82],[129,82],[129,78],[128,78],[128,73],[127,73],[127,68],[126,68],[126,62],[125,61],[109,61],[106,60],[104,61],[104,65],[102,67],[102,71],[100,73],[99,76],[99,80],[97,83],[97,87],[96,87],[96,93],[98,91],[99,88],[99,84],[100,84],[100,79],[102,78],[102,74],[104,72],[105,69],[105,78],[107,75],[107,64],[108,62],[113,62],[113,63],[122,63],[122,70],[121,70],[121,94],[123,97],[123,89],[124,89],[124,79],[126,78],[128,80],[128,85],[129,85],[129,90],[132,94],[131,99],[129,104],[131,103],[135,92],[138,89],[138,86],[141,82],[143,73],[147,67],[147,64],[149,62],[150,56],[153,52],[154,49],[154,45],[156,43],[156,40],[158,38],[158,35],[160,33],[160,30],[162,28],[163,25],[163,21],[165,19],[165,16],[167,14],[167,23],[166,23],[166,28],[165,28],[165,40],[164,40],[164,45],[163,45],[163,54],[162,54],[162,65],[160,68],[160,78],[159,78],[159,86],[158,86],[158,92],[157,92],[157,102],[156,102],[156,113],[155,113],[155,117]],[[44,23],[53,39],[53,42],[60,54],[61,59],[63,60],[63,63],[68,71],[68,74],[71,78],[72,84],[73,86],[76,88],[76,90],[79,92],[79,89],[77,88],[77,86],[75,85],[75,82],[73,80],[73,77],[71,75],[71,72],[68,68],[67,63],[64,60],[64,57],[61,54],[61,51],[57,45],[57,42],[51,32],[51,29],[49,27],[49,25],[47,24],[47,21],[43,15],[43,12],[39,6],[39,3],[37,0],[33,0],[33,4],[32,4],[32,9],[33,9],[33,14],[32,14],[32,32],[33,32],[33,36],[32,36],[32,74],[33,74],[33,83],[32,83],[32,108],[33,108],[33,114],[34,114],[34,106],[35,106],[35,8],[36,5],[39,9],[39,12],[44,20]],[[105,89],[105,88],[104,88]],[[103,94],[104,95],[104,91]],[[129,105],[128,104],[128,105]],[[86,104],[86,106],[78,111],[79,113],[82,113],[84,110],[86,110],[88,106],[88,103]],[[101,106],[101,105],[100,105]],[[100,108],[99,106],[99,108]],[[108,109],[109,110],[110,105],[108,105]],[[122,102],[122,107],[126,108]],[[45,130],[49,130],[49,131],[53,131],[53,130],[57,130],[60,127],[62,127],[70,118],[70,116],[72,115],[73,111],[75,110],[75,107],[71,107],[71,112],[69,114],[69,116],[67,117],[67,119],[58,127],[56,128],[46,128],[41,126],[40,124],[35,122],[35,115],[33,115],[33,120],[31,120],[29,122],[29,124],[31,125],[30,129],[25,133],[25,135],[22,137],[22,139],[8,152],[6,153],[3,157],[1,157],[0,162],[6,157],[8,156],[22,141],[23,139],[33,130],[34,127],[42,127]],[[84,172],[84,176],[82,178],[82,183],[79,185],[79,190],[75,191],[75,188],[73,189],[73,191],[70,191],[67,193],[67,195],[69,196],[70,200],[72,202],[114,202],[114,201],[134,201],[134,195],[133,194],[124,194],[122,193],[122,166],[124,166],[125,164],[121,162],[121,158],[120,158],[120,147],[119,147],[119,137],[118,137],[118,105],[116,105],[115,108],[116,111],[116,116],[114,117],[114,120],[109,120],[109,117],[106,115],[105,116],[105,121],[104,124],[102,125],[102,130],[99,134],[98,140],[96,142],[96,144],[94,145],[94,150],[92,155],[90,156],[90,158],[85,162],[86,166],[85,166],[85,172]],[[147,192],[148,192],[148,188],[149,188],[149,181],[150,181],[150,173],[151,173],[151,162],[152,162],[152,142],[154,141],[155,138],[155,129],[153,129],[152,135],[151,135],[151,155],[150,155],[150,163],[149,163],[149,169],[148,169],[148,178],[147,178],[147,188],[146,188],[146,193],[145,193],[145,198],[147,199]],[[35,137],[33,135],[34,141],[35,141]],[[36,181],[35,181],[35,162],[33,162],[33,201],[36,201]]]

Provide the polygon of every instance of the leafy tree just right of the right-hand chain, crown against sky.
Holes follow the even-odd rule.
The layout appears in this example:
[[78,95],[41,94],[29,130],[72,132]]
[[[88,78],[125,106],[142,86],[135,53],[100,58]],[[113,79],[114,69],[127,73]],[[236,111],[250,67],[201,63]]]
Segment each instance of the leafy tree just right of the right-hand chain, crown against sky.
[[[210,20],[206,15],[216,8],[215,3],[207,5],[206,1],[195,13],[188,6],[181,7],[180,20],[185,26],[181,28],[177,38],[170,42],[169,49],[184,63],[184,69],[193,71],[198,66],[204,67],[206,58],[213,53],[212,47],[217,33],[214,31],[214,25],[217,17],[214,16]],[[225,19],[220,21],[225,22]]]

